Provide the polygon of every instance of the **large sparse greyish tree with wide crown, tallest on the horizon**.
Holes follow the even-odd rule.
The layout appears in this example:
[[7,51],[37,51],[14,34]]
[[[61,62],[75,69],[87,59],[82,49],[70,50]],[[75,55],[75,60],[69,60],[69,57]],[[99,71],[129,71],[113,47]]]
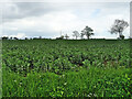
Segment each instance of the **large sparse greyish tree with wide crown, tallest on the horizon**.
[[113,23],[113,25],[110,29],[110,33],[111,34],[118,34],[119,33],[119,38],[123,40],[124,35],[122,34],[122,32],[124,31],[124,29],[127,29],[129,26],[129,23],[124,20],[119,20],[117,19]]

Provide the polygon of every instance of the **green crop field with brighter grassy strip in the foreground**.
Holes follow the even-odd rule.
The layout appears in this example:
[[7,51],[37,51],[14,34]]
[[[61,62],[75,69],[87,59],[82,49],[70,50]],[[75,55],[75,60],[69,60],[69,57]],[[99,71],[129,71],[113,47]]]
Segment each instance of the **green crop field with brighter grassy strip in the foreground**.
[[2,97],[132,97],[129,40],[3,40]]

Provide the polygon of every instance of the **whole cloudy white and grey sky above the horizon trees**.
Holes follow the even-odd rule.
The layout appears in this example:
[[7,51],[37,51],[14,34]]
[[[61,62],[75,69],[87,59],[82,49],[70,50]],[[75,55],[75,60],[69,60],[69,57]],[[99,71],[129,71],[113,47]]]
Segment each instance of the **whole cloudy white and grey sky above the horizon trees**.
[[[19,38],[42,36],[55,38],[86,25],[94,29],[92,38],[117,38],[110,34],[116,19],[130,21],[129,2],[4,2],[1,3],[0,36]],[[0,11],[1,12],[1,11]],[[123,34],[130,36],[130,28]]]

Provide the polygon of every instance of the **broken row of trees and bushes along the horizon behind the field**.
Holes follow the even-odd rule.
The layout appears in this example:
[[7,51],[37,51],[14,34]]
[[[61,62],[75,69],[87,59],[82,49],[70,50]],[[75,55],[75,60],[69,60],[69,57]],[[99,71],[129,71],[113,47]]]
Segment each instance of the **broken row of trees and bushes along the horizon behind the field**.
[[[117,19],[117,20],[114,20],[114,23],[110,28],[109,32],[111,34],[119,34],[118,40],[124,40],[124,35],[122,33],[128,26],[129,26],[129,23],[127,21]],[[87,40],[89,40],[92,35],[95,35],[94,30],[89,26],[86,26],[84,30],[81,30],[80,33],[78,31],[73,31],[73,37],[75,37],[76,40],[78,37],[84,40],[85,36],[87,37]],[[24,40],[41,40],[41,38],[42,38],[42,36],[33,37],[33,38],[25,37]],[[56,37],[56,40],[68,40],[68,38],[69,38],[68,34],[61,35],[59,37]],[[3,36],[2,40],[19,40],[19,38]]]

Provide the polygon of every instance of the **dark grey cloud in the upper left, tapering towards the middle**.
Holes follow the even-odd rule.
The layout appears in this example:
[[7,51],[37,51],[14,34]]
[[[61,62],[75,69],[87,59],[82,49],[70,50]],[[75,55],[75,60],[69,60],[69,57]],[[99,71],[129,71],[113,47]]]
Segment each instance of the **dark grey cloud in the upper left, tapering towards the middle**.
[[2,19],[3,22],[13,21],[28,16],[38,16],[53,11],[59,11],[59,4],[48,2],[14,2],[4,3]]

